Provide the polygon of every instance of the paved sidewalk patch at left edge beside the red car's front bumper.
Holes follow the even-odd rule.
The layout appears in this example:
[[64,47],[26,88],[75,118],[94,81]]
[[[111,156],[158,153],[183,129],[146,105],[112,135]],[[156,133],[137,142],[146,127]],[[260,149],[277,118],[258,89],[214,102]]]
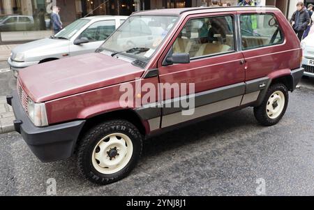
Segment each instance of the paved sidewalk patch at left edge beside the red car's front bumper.
[[13,131],[14,120],[12,107],[6,104],[6,97],[0,96],[0,134]]

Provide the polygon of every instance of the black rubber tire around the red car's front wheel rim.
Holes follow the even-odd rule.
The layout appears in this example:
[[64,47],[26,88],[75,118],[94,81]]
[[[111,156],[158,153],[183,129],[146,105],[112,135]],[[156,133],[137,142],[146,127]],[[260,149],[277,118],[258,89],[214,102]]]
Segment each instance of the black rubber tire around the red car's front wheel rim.
[[[127,135],[133,144],[133,153],[127,165],[114,174],[98,172],[92,163],[92,154],[96,145],[107,135],[122,133]],[[77,167],[89,181],[101,185],[124,179],[137,164],[142,154],[143,137],[139,130],[128,121],[112,120],[100,123],[85,133],[77,145]]]

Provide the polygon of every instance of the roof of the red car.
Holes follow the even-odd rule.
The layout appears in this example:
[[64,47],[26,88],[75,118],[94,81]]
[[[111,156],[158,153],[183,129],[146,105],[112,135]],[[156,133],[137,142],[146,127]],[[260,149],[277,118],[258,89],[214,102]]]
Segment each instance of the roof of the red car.
[[132,15],[193,15],[197,13],[218,13],[228,11],[246,11],[246,10],[279,10],[274,6],[229,6],[229,7],[195,7],[195,8],[174,8],[161,10],[144,10],[135,12]]

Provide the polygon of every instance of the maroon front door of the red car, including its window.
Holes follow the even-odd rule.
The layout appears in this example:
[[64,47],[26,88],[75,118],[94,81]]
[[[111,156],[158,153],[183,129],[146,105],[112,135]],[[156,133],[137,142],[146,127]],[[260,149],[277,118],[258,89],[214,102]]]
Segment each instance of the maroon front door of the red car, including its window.
[[[194,90],[181,89],[177,96],[174,89],[160,90],[165,93],[162,96],[163,128],[241,105],[245,72],[244,57],[236,44],[236,14],[188,17],[165,50],[166,54],[158,61],[160,84],[171,84],[172,87],[194,84]],[[189,53],[190,63],[165,63],[167,57],[179,53]],[[181,105],[179,109],[168,106],[168,103],[181,101],[178,95],[183,97],[185,93],[195,99],[194,107],[189,107],[190,114],[183,114],[186,107]]]

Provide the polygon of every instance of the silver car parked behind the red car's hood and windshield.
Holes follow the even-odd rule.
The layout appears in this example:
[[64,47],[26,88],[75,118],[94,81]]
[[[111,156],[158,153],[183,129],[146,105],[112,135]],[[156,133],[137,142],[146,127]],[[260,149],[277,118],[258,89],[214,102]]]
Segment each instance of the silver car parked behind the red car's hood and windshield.
[[22,68],[63,57],[94,52],[127,16],[84,17],[50,38],[18,45],[8,63],[15,77]]

